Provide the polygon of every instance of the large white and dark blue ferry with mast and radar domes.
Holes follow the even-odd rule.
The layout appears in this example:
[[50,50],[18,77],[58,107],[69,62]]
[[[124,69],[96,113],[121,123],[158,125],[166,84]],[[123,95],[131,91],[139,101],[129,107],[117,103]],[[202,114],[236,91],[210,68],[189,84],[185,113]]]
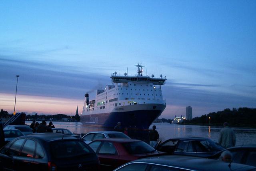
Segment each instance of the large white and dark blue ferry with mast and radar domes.
[[113,127],[121,122],[122,128],[148,129],[166,107],[161,85],[166,77],[143,76],[142,65],[137,66],[137,74],[128,76],[111,75],[112,85],[96,91],[95,99],[84,95],[84,107],[80,122],[84,125]]

